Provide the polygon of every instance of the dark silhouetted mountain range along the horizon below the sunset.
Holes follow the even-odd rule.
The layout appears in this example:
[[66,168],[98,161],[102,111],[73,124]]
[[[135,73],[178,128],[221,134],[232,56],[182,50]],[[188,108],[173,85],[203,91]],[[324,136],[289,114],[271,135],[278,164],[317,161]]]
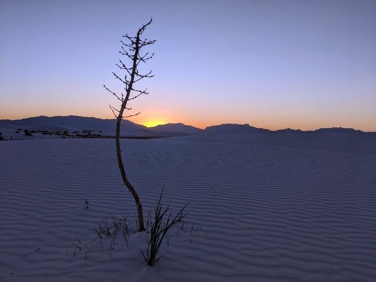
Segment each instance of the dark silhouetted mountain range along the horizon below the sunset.
[[[20,120],[0,120],[1,126],[23,126],[23,127],[41,127],[41,126],[54,126],[63,128],[76,128],[85,130],[114,130],[116,125],[115,119],[100,119],[94,117],[81,117],[81,116],[55,116],[55,117],[31,117]],[[302,131],[300,129],[281,129],[269,130],[264,128],[257,128],[249,124],[221,124],[208,126],[205,129],[200,129],[191,125],[182,123],[167,123],[153,127],[146,127],[136,124],[129,120],[123,120],[121,129],[125,131],[138,131],[142,134],[153,135],[153,132],[164,133],[171,136],[187,135],[187,134],[213,134],[213,133],[277,133],[277,134],[303,134],[303,133],[342,133],[342,132],[362,132],[352,128],[320,128],[317,130]],[[160,134],[157,134],[160,135]]]

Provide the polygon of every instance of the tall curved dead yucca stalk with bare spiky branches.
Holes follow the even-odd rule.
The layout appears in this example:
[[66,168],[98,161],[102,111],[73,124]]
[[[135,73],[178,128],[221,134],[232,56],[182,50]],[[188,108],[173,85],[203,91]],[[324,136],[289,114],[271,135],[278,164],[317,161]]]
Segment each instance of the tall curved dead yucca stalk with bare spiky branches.
[[[115,137],[115,143],[116,143],[116,154],[117,154],[117,161],[120,169],[120,174],[121,177],[123,178],[124,185],[127,186],[129,191],[132,193],[134,201],[136,202],[136,207],[137,207],[137,213],[138,213],[138,227],[140,231],[145,230],[144,223],[143,223],[143,212],[142,212],[142,204],[140,201],[140,198],[134,190],[132,184],[128,181],[127,175],[125,173],[124,165],[123,165],[123,160],[121,157],[121,149],[120,149],[120,126],[121,126],[121,121],[123,118],[129,118],[132,116],[138,115],[140,112],[136,114],[130,114],[130,115],[125,115],[123,116],[123,113],[125,110],[131,110],[131,108],[127,107],[127,103],[130,100],[136,99],[142,94],[149,94],[147,92],[147,88],[145,90],[138,90],[134,88],[134,84],[138,81],[140,81],[143,78],[150,78],[153,77],[151,75],[151,71],[149,71],[147,74],[140,74],[138,71],[138,65],[142,62],[145,63],[147,60],[151,59],[154,56],[154,53],[152,55],[149,55],[149,52],[141,54],[140,51],[143,47],[146,47],[148,45],[152,45],[155,43],[155,40],[148,40],[146,39],[141,39],[141,35],[151,24],[152,19],[146,24],[143,25],[138,31],[135,37],[128,36],[126,34],[123,36],[125,38],[125,42],[121,41],[121,50],[119,53],[123,55],[130,63],[128,65],[125,64],[125,61],[123,62],[122,60],[119,60],[119,64],[116,64],[116,66],[120,69],[121,72],[124,72],[124,76],[118,76],[116,73],[112,73],[115,77],[115,79],[121,81],[124,85],[124,90],[125,90],[125,96],[123,93],[121,95],[116,94],[115,92],[111,91],[108,89],[105,85],[103,87],[110,92],[112,95],[114,95],[120,102],[121,102],[121,107],[120,109],[116,109],[115,107],[110,106],[111,111],[115,115],[116,118],[116,137]],[[127,67],[129,66],[129,67]],[[133,95],[133,97],[130,97],[130,95]]]

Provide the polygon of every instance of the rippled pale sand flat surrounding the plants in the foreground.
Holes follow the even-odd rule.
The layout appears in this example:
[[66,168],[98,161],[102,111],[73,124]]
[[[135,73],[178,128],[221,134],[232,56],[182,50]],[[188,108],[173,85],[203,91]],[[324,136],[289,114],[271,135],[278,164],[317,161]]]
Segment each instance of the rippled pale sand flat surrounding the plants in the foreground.
[[119,235],[112,258],[110,238],[73,254],[107,213],[136,229],[114,140],[1,142],[0,279],[376,279],[376,156],[193,137],[121,140],[145,214],[163,185],[174,210],[191,201],[153,267],[145,232]]

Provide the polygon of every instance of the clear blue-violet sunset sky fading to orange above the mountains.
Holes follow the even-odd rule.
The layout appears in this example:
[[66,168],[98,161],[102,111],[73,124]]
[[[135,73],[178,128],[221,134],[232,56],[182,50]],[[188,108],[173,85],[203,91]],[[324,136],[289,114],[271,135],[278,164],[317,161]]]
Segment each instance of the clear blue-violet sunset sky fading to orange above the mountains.
[[0,119],[114,118],[102,85],[150,17],[133,122],[376,131],[376,2],[345,0],[0,0]]

